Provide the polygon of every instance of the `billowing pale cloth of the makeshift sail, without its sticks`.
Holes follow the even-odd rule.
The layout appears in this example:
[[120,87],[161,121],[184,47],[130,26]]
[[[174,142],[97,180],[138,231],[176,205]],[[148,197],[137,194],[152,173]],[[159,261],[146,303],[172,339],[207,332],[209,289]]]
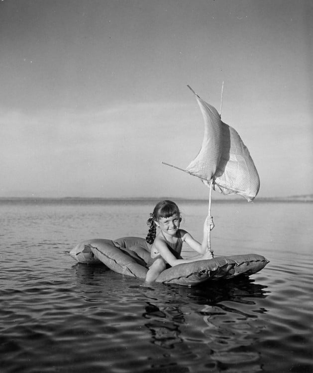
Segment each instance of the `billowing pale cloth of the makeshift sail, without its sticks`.
[[259,191],[260,179],[247,147],[236,130],[220,120],[213,106],[198,94],[196,97],[205,134],[200,152],[185,171],[201,178],[207,186],[212,179],[213,189],[222,194],[240,194],[252,201]]

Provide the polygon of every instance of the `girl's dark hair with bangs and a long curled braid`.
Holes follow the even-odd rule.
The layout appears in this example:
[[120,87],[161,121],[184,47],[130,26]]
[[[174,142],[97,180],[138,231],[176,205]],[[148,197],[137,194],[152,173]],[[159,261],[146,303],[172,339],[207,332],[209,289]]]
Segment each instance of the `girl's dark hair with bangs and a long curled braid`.
[[153,244],[156,236],[156,224],[155,221],[159,221],[161,217],[170,217],[174,214],[180,215],[179,208],[175,202],[169,201],[168,199],[160,201],[156,204],[153,209],[150,218],[147,220],[147,225],[149,226],[149,232],[146,237],[146,241],[149,244]]

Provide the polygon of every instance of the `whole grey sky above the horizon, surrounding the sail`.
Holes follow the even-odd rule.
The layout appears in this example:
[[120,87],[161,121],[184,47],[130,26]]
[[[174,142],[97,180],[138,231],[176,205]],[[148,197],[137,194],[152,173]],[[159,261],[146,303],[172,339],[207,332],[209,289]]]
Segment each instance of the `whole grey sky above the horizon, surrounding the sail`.
[[206,198],[161,161],[201,147],[187,85],[220,111],[222,82],[258,196],[312,194],[312,40],[311,0],[1,0],[0,197]]

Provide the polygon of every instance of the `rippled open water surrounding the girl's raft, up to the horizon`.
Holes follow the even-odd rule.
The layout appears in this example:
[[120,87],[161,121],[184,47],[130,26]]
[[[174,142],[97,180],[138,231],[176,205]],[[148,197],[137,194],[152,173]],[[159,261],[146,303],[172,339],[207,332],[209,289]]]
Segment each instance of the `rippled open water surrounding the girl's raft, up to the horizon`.
[[[215,253],[270,260],[248,280],[144,287],[68,255],[145,237],[154,204],[0,201],[0,372],[313,372],[312,203],[213,200]],[[201,239],[206,203],[178,204]]]

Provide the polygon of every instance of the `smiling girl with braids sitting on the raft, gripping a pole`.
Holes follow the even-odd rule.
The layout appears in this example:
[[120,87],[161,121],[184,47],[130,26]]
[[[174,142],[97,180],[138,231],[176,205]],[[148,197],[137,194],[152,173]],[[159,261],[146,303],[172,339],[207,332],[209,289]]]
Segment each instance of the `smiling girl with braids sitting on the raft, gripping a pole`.
[[[202,244],[196,241],[187,231],[179,229],[182,218],[176,203],[169,200],[161,201],[154,207],[150,216],[147,221],[150,229],[146,241],[153,245],[151,247],[151,258],[147,264],[149,267],[146,276],[147,282],[156,280],[166,268],[182,263],[211,259],[208,250],[208,226],[210,230],[214,227],[211,216],[207,217],[204,223]],[[157,236],[156,227],[160,228]],[[183,242],[186,242],[200,255],[191,259],[183,259],[181,257]]]

